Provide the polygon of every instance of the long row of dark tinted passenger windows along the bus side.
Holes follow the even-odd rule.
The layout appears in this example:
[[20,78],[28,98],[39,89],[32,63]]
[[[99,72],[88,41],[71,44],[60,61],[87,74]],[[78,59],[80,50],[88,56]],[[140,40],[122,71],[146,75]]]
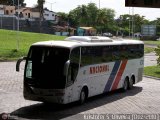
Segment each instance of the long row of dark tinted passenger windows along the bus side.
[[140,58],[144,54],[144,45],[88,46],[81,50],[81,64],[91,65]]

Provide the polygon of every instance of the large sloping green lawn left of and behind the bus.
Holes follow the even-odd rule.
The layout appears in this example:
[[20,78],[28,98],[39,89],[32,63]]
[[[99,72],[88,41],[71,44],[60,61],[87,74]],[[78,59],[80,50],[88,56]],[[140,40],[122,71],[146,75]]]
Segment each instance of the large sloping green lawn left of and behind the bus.
[[[64,38],[64,36],[0,29],[0,61],[16,60],[21,56],[26,56],[30,45],[35,42],[63,40]],[[18,43],[19,50],[17,51]]]

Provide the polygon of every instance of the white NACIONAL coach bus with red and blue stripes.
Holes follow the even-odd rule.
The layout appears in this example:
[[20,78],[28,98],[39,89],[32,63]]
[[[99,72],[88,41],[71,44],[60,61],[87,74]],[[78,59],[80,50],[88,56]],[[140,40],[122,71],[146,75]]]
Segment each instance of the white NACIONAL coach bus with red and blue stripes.
[[[144,44],[138,40],[72,36],[30,47],[24,70],[24,98],[67,104],[142,80]],[[20,62],[16,69],[19,71]]]

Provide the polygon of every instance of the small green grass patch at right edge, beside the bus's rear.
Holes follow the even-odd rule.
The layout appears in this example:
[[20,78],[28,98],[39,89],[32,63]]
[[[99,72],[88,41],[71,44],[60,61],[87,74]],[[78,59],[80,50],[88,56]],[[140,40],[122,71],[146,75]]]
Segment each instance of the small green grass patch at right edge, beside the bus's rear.
[[144,75],[160,78],[160,66],[145,67]]

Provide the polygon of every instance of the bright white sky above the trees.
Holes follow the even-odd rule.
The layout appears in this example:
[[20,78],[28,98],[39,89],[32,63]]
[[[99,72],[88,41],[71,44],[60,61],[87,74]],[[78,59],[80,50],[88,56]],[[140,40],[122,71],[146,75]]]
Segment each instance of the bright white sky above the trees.
[[[54,12],[65,12],[69,13],[70,10],[75,9],[78,5],[92,2],[97,5],[99,8],[111,8],[115,10],[116,18],[122,14],[132,14],[132,8],[125,7],[125,0],[45,0],[45,7]],[[33,7],[37,4],[37,0],[25,0],[27,7]],[[160,18],[160,8],[139,8],[134,7],[134,14],[140,14],[145,16],[148,20],[155,20],[156,18]],[[130,11],[130,12],[129,12]]]

